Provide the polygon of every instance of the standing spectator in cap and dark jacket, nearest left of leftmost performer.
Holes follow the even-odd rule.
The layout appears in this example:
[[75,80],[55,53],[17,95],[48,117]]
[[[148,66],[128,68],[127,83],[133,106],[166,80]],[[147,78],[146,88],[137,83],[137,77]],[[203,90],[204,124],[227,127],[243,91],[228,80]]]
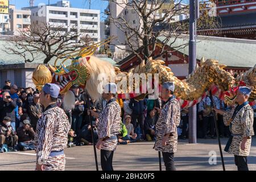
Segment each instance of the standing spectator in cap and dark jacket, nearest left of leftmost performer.
[[35,91],[33,94],[33,102],[28,106],[28,115],[31,119],[31,126],[36,130],[38,119],[42,116],[43,105],[40,104],[40,93]]

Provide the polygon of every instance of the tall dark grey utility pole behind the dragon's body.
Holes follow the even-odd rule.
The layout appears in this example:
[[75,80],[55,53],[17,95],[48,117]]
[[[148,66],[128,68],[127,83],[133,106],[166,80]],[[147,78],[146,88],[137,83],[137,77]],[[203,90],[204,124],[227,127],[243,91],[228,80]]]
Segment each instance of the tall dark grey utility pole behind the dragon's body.
[[[199,0],[189,0],[189,66],[191,74],[196,69],[196,19],[199,18]],[[189,143],[196,143],[196,105],[189,107]]]

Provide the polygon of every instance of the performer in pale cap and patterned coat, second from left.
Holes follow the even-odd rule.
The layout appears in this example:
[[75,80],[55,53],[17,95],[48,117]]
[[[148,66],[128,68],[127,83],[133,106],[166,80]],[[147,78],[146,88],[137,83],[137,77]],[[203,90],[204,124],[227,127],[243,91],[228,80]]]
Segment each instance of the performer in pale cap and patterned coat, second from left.
[[107,104],[101,114],[88,110],[88,114],[99,118],[98,142],[96,148],[101,150],[101,168],[103,171],[113,171],[112,160],[117,148],[117,134],[121,129],[121,107],[115,101],[117,85],[109,83],[104,86],[102,98]]

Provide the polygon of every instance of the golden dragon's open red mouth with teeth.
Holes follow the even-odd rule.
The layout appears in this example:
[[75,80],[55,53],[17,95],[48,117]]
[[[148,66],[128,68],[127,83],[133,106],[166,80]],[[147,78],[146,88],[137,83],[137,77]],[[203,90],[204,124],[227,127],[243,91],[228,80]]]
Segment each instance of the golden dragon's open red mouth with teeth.
[[52,73],[52,83],[58,82],[60,86],[60,94],[63,94],[71,88],[72,82],[76,80],[77,76],[78,74],[76,71],[71,71],[63,75]]

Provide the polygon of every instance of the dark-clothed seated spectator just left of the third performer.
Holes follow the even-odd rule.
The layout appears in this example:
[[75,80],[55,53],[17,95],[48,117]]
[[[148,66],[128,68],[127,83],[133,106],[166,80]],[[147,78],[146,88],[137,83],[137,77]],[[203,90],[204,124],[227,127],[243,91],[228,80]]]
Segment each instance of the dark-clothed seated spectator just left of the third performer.
[[149,114],[147,115],[144,123],[144,129],[146,133],[147,141],[155,140],[155,124],[156,124],[156,111],[154,109],[149,110]]

